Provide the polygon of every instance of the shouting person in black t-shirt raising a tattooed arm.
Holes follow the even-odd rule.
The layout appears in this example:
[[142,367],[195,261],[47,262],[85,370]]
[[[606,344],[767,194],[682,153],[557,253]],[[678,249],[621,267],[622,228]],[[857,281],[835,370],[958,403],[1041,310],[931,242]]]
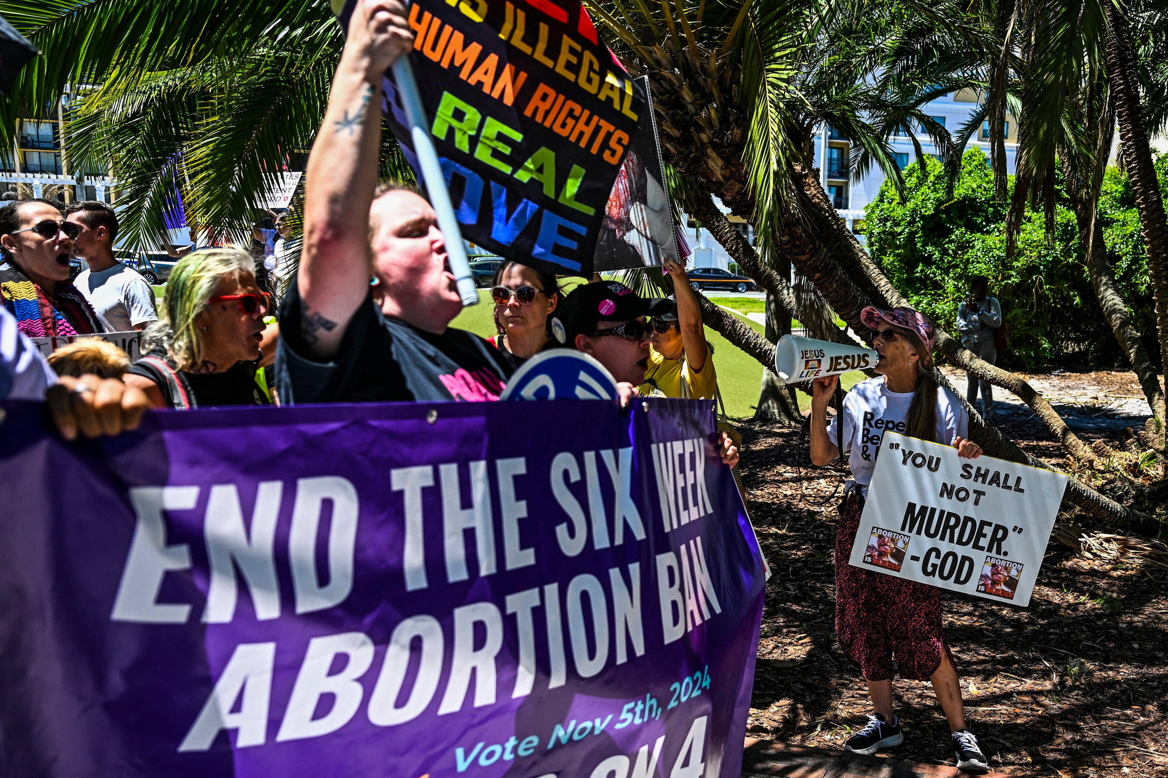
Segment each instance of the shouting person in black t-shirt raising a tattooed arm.
[[401,0],[357,0],[305,176],[304,253],[280,317],[285,402],[496,400],[512,372],[447,327],[463,303],[430,203],[377,187],[382,73],[412,40]]

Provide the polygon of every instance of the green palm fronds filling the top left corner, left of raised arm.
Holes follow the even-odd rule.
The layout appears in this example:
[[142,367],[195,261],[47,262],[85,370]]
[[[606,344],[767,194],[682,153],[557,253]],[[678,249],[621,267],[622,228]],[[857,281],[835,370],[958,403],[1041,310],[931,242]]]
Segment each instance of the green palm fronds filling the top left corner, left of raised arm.
[[[0,140],[67,90],[69,169],[110,169],[131,245],[188,223],[246,239],[256,205],[322,120],[343,35],[321,0],[5,0],[42,56],[0,106]],[[384,173],[412,178],[392,133]],[[293,222],[296,219],[293,218]]]

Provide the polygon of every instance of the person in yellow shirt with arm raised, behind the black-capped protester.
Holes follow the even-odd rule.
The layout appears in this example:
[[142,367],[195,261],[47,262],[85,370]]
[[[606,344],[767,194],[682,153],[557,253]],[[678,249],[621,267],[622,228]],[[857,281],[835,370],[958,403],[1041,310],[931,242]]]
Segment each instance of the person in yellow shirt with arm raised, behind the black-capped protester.
[[670,309],[655,315],[648,370],[641,394],[654,390],[665,397],[712,400],[718,392],[718,374],[714,370],[714,349],[705,342],[705,325],[697,295],[686,278],[684,265],[672,259],[662,266],[673,279]]

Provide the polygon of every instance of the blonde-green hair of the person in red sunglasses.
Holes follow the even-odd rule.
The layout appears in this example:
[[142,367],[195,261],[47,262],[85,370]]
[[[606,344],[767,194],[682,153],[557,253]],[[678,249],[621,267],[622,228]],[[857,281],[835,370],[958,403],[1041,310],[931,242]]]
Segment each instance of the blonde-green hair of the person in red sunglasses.
[[[203,360],[203,336],[195,318],[215,296],[215,289],[227,275],[255,273],[256,260],[242,246],[220,246],[194,251],[175,265],[166,282],[166,296],[159,310],[159,322],[152,325],[152,339],[166,343],[179,370]],[[159,328],[155,330],[155,328]]]

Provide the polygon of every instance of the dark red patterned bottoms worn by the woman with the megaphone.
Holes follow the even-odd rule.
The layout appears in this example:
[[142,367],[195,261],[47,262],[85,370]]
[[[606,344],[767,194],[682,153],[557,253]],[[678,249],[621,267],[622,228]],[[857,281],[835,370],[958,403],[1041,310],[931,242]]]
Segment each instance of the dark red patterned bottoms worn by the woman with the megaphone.
[[863,512],[858,495],[858,490],[853,491],[840,506],[835,533],[835,633],[840,647],[869,681],[897,675],[927,680],[940,667],[941,650],[953,663],[941,631],[941,590],[848,565]]

